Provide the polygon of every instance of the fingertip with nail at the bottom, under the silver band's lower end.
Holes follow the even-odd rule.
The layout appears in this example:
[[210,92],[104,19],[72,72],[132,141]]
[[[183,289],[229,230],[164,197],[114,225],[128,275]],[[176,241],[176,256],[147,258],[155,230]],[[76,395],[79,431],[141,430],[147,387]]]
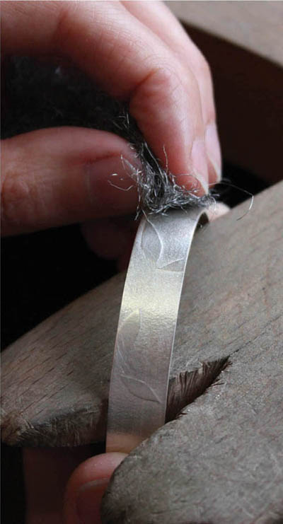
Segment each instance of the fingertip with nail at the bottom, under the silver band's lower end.
[[105,453],[83,462],[71,475],[64,497],[64,524],[99,524],[100,502],[112,472],[127,455]]

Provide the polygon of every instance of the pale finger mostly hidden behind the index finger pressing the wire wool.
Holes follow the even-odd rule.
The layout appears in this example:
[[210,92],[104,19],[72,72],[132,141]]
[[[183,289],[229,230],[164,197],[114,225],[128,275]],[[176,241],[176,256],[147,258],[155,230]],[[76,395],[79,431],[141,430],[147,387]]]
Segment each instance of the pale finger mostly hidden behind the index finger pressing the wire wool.
[[[216,113],[212,76],[206,59],[187,35],[170,9],[160,1],[150,1],[146,4],[139,1],[123,1],[127,10],[144,23],[163,42],[168,45],[183,62],[192,69],[200,89],[202,118],[205,127],[205,143],[209,158],[209,182],[217,182],[221,178],[221,151],[216,129]],[[170,28],[170,30],[166,30]]]

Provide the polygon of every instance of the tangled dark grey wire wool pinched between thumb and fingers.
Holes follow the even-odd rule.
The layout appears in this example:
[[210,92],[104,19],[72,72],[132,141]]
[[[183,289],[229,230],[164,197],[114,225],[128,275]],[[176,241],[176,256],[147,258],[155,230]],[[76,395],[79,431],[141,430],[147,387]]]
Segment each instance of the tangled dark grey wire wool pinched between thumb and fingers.
[[[42,127],[76,125],[113,132],[126,139],[142,165],[141,170],[135,170],[122,159],[127,174],[137,185],[137,215],[141,211],[166,213],[172,207],[209,206],[214,202],[212,194],[198,197],[196,189],[187,191],[180,187],[168,166],[163,167],[146,144],[127,103],[101,91],[80,71],[36,62],[30,57],[12,57],[6,84],[11,110],[5,115],[3,138]],[[165,149],[164,153],[166,156]]]

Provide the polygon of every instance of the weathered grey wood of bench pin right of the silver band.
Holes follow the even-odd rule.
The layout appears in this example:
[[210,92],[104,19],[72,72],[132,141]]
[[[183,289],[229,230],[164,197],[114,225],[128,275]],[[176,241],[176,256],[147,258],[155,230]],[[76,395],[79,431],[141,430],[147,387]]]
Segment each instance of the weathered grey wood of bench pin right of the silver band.
[[174,369],[185,339],[188,366],[224,355],[231,365],[122,462],[103,524],[283,522],[282,184],[247,220],[237,214],[195,242]]

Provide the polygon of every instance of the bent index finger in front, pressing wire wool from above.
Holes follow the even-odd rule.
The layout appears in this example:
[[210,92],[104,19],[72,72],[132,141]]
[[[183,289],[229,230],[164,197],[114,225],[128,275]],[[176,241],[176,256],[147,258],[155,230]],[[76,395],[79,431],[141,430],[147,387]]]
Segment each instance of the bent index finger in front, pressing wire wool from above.
[[[13,2],[2,13],[4,47],[62,52],[112,95],[129,99],[141,132],[175,174],[191,173],[207,190],[200,93],[161,40],[120,2]],[[15,36],[16,35],[16,36]]]

